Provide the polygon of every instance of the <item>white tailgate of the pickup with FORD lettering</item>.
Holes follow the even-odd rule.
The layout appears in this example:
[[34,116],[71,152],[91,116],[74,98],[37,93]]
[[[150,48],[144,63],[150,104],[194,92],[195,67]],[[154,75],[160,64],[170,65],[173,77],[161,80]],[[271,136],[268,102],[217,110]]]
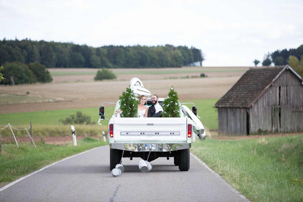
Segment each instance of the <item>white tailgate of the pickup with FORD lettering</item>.
[[186,118],[114,118],[114,141],[187,141]]

